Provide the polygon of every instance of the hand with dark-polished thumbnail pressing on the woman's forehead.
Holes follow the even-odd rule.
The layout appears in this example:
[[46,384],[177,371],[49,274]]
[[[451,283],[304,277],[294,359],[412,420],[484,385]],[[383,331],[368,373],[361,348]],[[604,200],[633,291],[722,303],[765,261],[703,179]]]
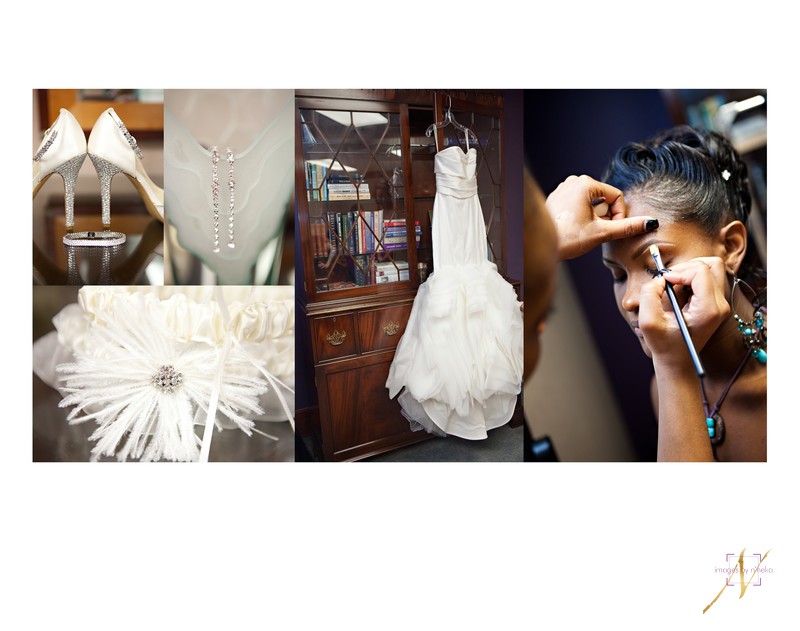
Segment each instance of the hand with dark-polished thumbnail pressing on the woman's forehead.
[[561,260],[585,254],[606,241],[658,227],[652,217],[627,217],[622,191],[588,175],[570,175],[550,193],[545,204],[556,224]]

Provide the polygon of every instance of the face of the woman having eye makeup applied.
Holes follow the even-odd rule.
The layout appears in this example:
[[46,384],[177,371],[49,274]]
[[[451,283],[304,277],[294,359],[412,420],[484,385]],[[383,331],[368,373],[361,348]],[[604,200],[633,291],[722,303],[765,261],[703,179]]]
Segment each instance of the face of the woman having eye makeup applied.
[[[645,354],[652,357],[639,330],[639,294],[642,286],[656,274],[650,246],[658,246],[665,267],[700,256],[721,256],[724,246],[720,249],[719,241],[696,224],[676,222],[672,215],[648,205],[636,194],[626,195],[625,201],[630,217],[654,217],[658,219],[659,227],[654,232],[603,244],[603,263],[611,271],[614,280],[614,296],[619,312],[639,338]],[[687,292],[680,287],[676,288],[676,294],[682,302],[688,298]],[[665,307],[668,308],[668,305]]]

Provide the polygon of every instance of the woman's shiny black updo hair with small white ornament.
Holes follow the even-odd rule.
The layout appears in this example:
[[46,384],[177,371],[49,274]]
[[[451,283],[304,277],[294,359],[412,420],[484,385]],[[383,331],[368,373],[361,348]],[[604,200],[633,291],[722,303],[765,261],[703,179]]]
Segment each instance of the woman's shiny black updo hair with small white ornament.
[[[712,131],[675,127],[617,150],[603,181],[636,194],[667,220],[697,224],[707,234],[739,220],[747,225],[747,165],[730,142]],[[748,233],[749,234],[749,233]],[[750,237],[742,274],[755,272]]]

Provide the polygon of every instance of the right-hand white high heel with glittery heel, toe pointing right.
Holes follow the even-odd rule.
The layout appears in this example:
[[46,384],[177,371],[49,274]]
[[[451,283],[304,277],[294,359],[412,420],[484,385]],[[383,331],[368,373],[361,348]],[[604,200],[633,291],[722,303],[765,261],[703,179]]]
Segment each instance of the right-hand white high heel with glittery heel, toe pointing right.
[[147,175],[142,166],[142,152],[114,108],[109,107],[95,122],[89,134],[88,150],[100,179],[103,227],[107,228],[111,222],[111,178],[117,173],[128,176],[142,196],[147,211],[164,221],[164,190]]

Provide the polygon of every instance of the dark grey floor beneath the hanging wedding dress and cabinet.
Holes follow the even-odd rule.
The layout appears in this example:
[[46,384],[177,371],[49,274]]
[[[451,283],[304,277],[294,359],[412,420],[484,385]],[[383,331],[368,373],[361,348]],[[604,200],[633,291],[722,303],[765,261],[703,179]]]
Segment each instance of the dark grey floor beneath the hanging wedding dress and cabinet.
[[363,462],[522,462],[522,426],[498,427],[486,440],[431,438]]

